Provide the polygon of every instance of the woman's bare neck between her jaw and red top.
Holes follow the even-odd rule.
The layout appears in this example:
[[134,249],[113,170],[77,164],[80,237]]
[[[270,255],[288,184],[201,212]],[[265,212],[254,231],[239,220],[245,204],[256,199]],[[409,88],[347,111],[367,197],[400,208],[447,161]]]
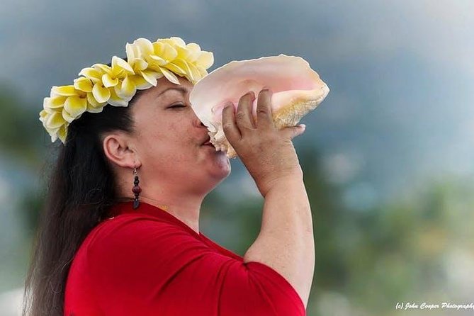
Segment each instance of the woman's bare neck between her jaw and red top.
[[184,200],[183,196],[180,198],[171,198],[170,196],[167,196],[165,199],[158,199],[140,194],[140,201],[167,211],[199,234],[199,213],[201,210],[201,203],[203,202],[202,196],[191,198],[190,196],[186,196],[186,200]]

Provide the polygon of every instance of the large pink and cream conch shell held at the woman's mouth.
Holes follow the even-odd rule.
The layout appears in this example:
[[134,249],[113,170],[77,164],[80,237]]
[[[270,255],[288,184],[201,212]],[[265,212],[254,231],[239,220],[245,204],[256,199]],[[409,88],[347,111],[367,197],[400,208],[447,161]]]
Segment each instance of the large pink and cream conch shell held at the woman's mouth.
[[[264,87],[273,92],[271,109],[277,129],[297,125],[329,94],[325,82],[301,57],[278,55],[229,62],[198,81],[189,97],[216,150],[229,158],[237,156],[222,130],[225,103],[230,101],[237,108],[242,95],[254,91],[258,96]],[[252,114],[256,122],[256,100]]]

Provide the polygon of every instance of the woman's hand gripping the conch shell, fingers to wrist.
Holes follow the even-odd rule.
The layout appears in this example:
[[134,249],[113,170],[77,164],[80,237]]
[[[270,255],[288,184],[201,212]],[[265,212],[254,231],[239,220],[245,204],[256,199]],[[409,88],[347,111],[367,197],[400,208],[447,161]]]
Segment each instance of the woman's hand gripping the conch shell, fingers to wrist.
[[256,122],[252,116],[252,91],[239,99],[234,115],[232,103],[222,111],[222,128],[230,145],[234,147],[262,196],[286,176],[302,175],[298,156],[291,139],[303,134],[304,125],[277,130],[271,113],[271,91],[259,92],[256,105]]

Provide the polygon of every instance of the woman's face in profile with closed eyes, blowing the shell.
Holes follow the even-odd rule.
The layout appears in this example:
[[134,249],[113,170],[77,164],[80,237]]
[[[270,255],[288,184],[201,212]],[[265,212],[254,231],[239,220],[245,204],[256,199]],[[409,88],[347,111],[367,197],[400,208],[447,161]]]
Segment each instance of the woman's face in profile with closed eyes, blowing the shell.
[[193,85],[179,82],[159,79],[132,106],[140,184],[207,193],[230,174],[230,162],[225,152],[203,145],[209,135],[189,103]]

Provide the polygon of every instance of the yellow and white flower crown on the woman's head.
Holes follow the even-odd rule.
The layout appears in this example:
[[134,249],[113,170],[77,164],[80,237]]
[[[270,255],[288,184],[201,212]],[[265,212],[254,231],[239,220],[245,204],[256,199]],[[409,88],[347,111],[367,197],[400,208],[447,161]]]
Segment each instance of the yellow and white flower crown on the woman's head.
[[196,43],[184,43],[177,37],[158,39],[152,43],[139,38],[125,45],[127,60],[113,56],[111,66],[94,64],[79,72],[74,84],[53,86],[43,101],[40,121],[51,136],[63,143],[67,127],[82,113],[99,113],[103,106],[128,106],[137,90],[157,86],[157,79],[166,77],[174,84],[186,77],[196,84],[214,63],[212,52],[201,51]]

